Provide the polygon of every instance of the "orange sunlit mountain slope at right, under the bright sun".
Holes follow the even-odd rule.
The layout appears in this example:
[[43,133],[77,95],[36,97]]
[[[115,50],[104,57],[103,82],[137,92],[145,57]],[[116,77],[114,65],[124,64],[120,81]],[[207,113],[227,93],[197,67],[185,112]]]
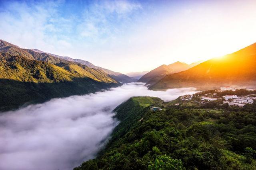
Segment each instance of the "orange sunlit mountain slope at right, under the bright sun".
[[235,53],[210,59],[186,71],[170,74],[151,90],[196,87],[206,90],[220,86],[255,87],[256,85],[256,43]]

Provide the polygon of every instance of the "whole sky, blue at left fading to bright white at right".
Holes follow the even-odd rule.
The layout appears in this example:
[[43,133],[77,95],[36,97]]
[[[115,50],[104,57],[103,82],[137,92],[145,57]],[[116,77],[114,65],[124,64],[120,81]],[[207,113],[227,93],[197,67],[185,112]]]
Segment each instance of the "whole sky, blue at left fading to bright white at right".
[[122,73],[256,42],[255,0],[0,0],[0,39]]

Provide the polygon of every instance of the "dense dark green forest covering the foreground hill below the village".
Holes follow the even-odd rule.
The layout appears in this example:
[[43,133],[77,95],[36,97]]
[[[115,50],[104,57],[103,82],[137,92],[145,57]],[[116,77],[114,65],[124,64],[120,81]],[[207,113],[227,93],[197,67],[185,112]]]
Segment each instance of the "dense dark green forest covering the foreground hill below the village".
[[256,169],[255,102],[177,108],[159,98],[135,97],[114,111],[120,124],[106,148],[74,170]]

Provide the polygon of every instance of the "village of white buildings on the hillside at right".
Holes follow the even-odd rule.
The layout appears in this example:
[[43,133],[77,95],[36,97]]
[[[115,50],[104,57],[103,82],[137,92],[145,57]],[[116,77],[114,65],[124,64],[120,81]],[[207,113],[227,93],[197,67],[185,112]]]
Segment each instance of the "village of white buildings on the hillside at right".
[[[255,94],[249,94],[245,96],[237,96],[236,94],[220,96],[221,92],[225,92],[225,91],[236,92],[236,90],[238,89],[234,89],[230,86],[225,86],[225,87],[221,87],[218,90],[214,90],[214,92],[208,92],[205,94],[202,94],[199,92],[192,95],[184,95],[184,96],[181,96],[180,99],[182,101],[189,101],[189,100],[192,100],[194,95],[196,95],[197,99],[199,100],[198,101],[195,100],[195,102],[199,104],[205,104],[209,101],[223,101],[223,104],[228,104],[229,106],[236,105],[239,107],[243,107],[245,104],[252,104],[254,100],[256,100],[256,90],[254,89],[245,89],[245,90],[250,92],[255,92]],[[176,105],[178,106],[179,104],[176,104]]]

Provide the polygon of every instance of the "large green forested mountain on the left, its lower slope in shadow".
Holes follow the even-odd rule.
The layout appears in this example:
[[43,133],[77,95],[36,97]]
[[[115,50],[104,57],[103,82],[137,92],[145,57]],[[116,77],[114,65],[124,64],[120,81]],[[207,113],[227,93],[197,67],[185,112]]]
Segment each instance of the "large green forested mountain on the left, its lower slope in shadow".
[[121,84],[101,69],[0,40],[0,110],[82,95]]

